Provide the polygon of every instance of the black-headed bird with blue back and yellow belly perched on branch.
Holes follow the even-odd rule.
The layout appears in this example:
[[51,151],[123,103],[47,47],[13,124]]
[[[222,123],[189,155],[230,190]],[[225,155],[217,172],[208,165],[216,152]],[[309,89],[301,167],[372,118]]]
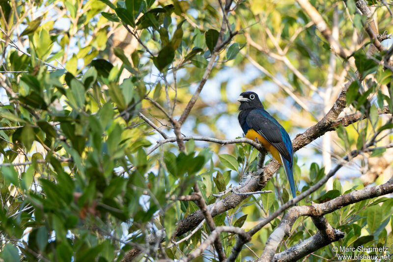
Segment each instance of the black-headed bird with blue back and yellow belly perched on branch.
[[259,97],[254,92],[243,92],[237,98],[240,102],[237,117],[246,138],[262,144],[284,167],[291,188],[292,197],[296,197],[293,180],[293,148],[288,133],[281,124],[264,109]]

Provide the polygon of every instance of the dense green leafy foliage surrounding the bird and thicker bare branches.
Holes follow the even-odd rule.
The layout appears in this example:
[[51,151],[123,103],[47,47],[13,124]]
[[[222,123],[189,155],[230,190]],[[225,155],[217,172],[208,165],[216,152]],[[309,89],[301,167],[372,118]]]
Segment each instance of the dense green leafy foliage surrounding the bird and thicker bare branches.
[[[299,205],[386,182],[392,174],[392,123],[385,114],[392,112],[392,71],[380,62],[384,54],[366,56],[368,20],[354,0],[311,4],[350,58],[338,57],[293,1],[233,1],[226,15],[225,2],[216,0],[0,0],[1,259],[110,262],[139,248],[138,259],[156,261],[191,253],[210,231],[204,224],[173,244],[176,223],[199,209],[177,198],[191,195],[197,182],[205,202],[215,203],[213,194],[257,169],[258,151],[247,143],[193,139],[182,151],[182,141],[163,140],[175,137],[174,129],[177,138],[241,137],[236,98],[244,90],[256,91],[293,139],[326,114],[358,70],[365,80],[349,86],[344,115],[358,112],[366,119],[339,126],[327,133],[327,142],[317,140],[295,154],[298,193],[351,150],[364,152]],[[381,1],[368,5],[379,31],[393,32],[388,8]],[[126,43],[131,52],[112,40],[116,30],[133,39]],[[213,69],[206,76],[209,62]],[[371,139],[379,147],[367,152]],[[376,175],[365,181],[369,174]],[[251,195],[215,216],[216,226],[247,231],[287,202],[282,168],[264,190],[273,193]],[[392,211],[393,199],[382,197],[326,215],[345,236],[308,261],[337,260],[333,246],[385,246],[393,252]],[[261,254],[281,216],[254,235],[238,261]],[[148,248],[146,235],[161,229],[165,241]],[[311,219],[301,217],[277,252],[315,231]],[[229,255],[235,234],[220,238]],[[196,259],[216,260],[213,248]]]

